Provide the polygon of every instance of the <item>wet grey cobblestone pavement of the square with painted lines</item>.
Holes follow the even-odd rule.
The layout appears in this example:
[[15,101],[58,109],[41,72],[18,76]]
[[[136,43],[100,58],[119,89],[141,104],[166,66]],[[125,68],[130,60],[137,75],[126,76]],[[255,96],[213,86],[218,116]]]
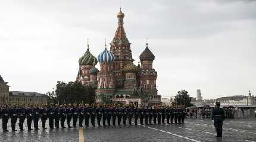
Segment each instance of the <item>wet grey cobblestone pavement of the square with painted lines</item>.
[[[10,120],[9,120],[10,121]],[[48,122],[48,121],[47,121]],[[40,121],[39,121],[40,124]],[[72,123],[71,123],[72,124]],[[2,125],[2,120],[0,122]],[[60,128],[2,132],[0,141],[248,141],[256,142],[256,119],[226,120],[223,138],[214,138],[213,122],[208,119],[186,119],[185,124],[115,125],[111,127]],[[32,124],[33,125],[33,124]],[[48,124],[47,124],[48,125]],[[41,125],[39,126],[40,128]],[[18,130],[18,122],[16,124]]]

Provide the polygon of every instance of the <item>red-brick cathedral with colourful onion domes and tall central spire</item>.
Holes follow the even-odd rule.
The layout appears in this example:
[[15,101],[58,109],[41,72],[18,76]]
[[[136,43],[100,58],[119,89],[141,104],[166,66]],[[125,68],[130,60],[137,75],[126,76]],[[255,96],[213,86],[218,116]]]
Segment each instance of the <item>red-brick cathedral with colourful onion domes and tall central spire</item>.
[[[114,102],[115,104],[160,104],[161,95],[157,94],[157,72],[152,64],[154,54],[148,48],[142,51],[141,65],[133,64],[132,50],[123,27],[124,14],[117,14],[118,27],[110,43],[110,51],[105,49],[98,57],[88,49],[79,59],[77,81],[83,85],[96,86],[96,103]],[[98,70],[95,65],[99,63]]]

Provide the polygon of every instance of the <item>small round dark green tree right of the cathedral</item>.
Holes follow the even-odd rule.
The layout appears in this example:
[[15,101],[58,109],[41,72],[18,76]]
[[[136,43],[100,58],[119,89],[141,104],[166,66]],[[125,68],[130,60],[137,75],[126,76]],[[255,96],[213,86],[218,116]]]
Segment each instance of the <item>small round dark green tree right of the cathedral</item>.
[[189,97],[188,91],[182,90],[178,91],[177,95],[174,98],[174,105],[182,105],[185,107],[192,106],[191,105],[191,98]]

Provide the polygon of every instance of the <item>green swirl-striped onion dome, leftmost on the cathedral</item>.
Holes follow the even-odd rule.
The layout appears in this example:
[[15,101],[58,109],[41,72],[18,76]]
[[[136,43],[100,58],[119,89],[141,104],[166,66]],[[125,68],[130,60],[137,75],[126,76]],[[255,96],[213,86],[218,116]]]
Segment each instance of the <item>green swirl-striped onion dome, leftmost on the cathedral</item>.
[[85,65],[92,65],[93,66],[93,64],[98,63],[96,57],[94,57],[90,53],[89,48],[86,50],[85,54],[82,57],[80,57],[78,62],[79,62],[80,66],[85,66]]

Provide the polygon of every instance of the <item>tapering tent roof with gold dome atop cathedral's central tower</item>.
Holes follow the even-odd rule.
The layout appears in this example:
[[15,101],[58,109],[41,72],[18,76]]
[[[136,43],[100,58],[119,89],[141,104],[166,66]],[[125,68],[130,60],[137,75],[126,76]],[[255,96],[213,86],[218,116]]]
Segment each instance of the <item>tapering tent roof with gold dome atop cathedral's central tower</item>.
[[124,31],[124,27],[123,27],[123,18],[124,18],[124,14],[121,11],[117,13],[117,20],[118,20],[118,27],[117,30],[115,31],[115,37],[113,38],[112,43],[115,44],[119,44],[119,43],[124,43],[124,44],[129,44],[129,40],[126,37],[126,33]]

